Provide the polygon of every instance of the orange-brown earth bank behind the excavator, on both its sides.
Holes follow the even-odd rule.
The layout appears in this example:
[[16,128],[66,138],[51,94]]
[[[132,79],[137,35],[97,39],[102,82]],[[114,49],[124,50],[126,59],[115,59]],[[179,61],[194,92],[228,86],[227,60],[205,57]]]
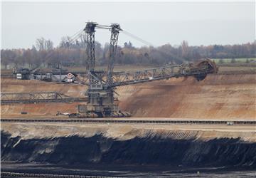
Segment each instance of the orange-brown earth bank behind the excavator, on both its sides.
[[[73,97],[84,95],[85,85],[45,83],[38,80],[2,79],[1,92],[57,91]],[[119,107],[134,117],[196,119],[256,119],[256,75],[208,75],[171,78],[117,88]],[[1,105],[1,117],[54,117],[57,111],[76,112],[78,103]]]

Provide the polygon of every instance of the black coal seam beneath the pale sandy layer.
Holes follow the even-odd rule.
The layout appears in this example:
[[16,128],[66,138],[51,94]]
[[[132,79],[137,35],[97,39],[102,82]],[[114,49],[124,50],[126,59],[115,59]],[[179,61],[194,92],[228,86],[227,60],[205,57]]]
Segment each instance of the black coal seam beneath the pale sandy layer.
[[154,136],[115,140],[94,135],[20,139],[1,132],[2,162],[256,167],[256,143],[239,138],[200,141]]

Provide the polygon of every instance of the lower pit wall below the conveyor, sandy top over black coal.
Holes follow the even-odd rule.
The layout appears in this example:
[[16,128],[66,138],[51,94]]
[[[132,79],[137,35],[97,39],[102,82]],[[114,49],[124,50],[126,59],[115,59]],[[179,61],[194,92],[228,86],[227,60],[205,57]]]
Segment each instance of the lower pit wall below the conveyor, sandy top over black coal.
[[1,162],[256,168],[255,132],[146,127],[2,123]]

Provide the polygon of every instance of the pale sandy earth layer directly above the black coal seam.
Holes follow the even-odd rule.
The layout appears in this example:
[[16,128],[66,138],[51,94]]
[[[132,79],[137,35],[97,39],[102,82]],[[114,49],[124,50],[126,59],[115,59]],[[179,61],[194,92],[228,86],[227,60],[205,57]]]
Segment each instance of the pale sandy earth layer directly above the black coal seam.
[[78,135],[92,137],[101,134],[117,140],[134,137],[172,138],[178,140],[211,140],[214,138],[240,138],[256,142],[255,125],[127,125],[85,123],[1,123],[4,132],[22,139],[68,137]]

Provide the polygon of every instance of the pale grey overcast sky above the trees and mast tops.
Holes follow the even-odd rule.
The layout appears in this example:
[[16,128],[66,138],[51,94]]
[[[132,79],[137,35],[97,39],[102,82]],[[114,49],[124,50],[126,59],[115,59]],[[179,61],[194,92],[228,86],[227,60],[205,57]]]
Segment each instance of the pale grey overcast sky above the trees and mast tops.
[[[2,2],[2,48],[31,48],[44,37],[58,46],[87,21],[119,23],[154,46],[235,44],[255,40],[255,1],[251,2]],[[109,41],[110,31],[97,30],[96,41]],[[119,45],[132,41],[119,34]]]

